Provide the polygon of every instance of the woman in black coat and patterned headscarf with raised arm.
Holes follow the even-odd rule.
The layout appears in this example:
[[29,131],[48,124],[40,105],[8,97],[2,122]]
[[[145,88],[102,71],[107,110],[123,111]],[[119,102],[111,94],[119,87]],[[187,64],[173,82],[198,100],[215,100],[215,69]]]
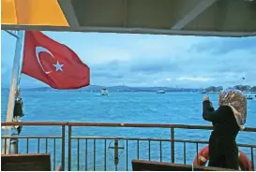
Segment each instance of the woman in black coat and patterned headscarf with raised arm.
[[238,169],[235,137],[244,129],[247,99],[238,90],[225,90],[219,94],[218,106],[215,110],[209,97],[203,98],[203,119],[214,126],[209,139],[209,166]]

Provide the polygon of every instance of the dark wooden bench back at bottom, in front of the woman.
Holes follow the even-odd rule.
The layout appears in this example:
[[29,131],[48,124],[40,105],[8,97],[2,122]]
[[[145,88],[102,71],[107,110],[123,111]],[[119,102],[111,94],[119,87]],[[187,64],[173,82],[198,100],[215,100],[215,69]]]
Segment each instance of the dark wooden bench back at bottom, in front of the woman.
[[179,165],[153,161],[132,160],[133,171],[235,171],[233,169],[206,167],[199,165]]

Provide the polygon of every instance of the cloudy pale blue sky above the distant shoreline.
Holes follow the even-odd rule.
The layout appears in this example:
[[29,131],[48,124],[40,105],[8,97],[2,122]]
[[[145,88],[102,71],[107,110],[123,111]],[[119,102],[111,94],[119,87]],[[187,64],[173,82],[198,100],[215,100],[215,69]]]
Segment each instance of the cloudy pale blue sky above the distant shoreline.
[[[1,34],[2,87],[8,87],[15,38],[4,31]],[[94,85],[186,88],[256,85],[256,37],[44,34],[66,44],[89,65]],[[24,75],[21,84],[46,86]]]

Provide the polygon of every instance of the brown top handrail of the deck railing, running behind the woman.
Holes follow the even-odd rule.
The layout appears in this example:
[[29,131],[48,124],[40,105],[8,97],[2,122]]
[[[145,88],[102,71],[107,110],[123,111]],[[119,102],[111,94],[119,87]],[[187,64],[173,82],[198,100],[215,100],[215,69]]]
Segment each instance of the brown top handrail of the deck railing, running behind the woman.
[[[188,125],[188,124],[168,124],[168,123],[114,123],[114,122],[1,122],[2,126],[10,125],[66,125],[66,126],[100,126],[100,127],[153,127],[153,128],[184,128],[184,129],[205,129],[212,130],[209,125]],[[254,127],[246,127],[246,132],[256,132]]]

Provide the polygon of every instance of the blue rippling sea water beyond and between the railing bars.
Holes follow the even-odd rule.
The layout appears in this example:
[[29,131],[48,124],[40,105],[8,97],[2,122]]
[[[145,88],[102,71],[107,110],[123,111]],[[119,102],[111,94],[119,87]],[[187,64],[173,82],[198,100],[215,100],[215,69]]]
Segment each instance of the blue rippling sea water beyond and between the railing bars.
[[[24,114],[23,122],[121,122],[121,123],[172,123],[211,125],[203,121],[201,93],[110,93],[109,96],[100,96],[99,93],[73,91],[23,91]],[[1,121],[5,122],[8,107],[8,90],[2,89],[1,94]],[[218,108],[218,94],[210,94],[214,106]],[[256,127],[256,99],[248,100],[247,127]],[[175,129],[175,139],[195,139],[207,141],[209,130]],[[3,130],[2,130],[3,133]],[[66,129],[68,136],[68,127]],[[3,134],[2,134],[3,135]],[[60,126],[24,126],[22,136],[61,136]],[[170,129],[161,128],[121,128],[121,127],[73,127],[72,136],[121,136],[143,138],[169,138]],[[60,139],[56,140],[56,154],[53,167],[59,165]],[[240,132],[237,143],[256,145],[256,133]],[[45,146],[47,144],[47,147]],[[79,145],[78,145],[79,144]],[[87,144],[87,149],[85,145]],[[107,147],[104,145],[106,144]],[[159,149],[161,144],[161,149]],[[80,148],[78,150],[77,148]],[[72,170],[114,170],[113,139],[104,140],[77,139],[72,140]],[[140,141],[139,154],[136,140],[119,140],[119,146],[124,147],[118,153],[118,170],[131,170],[132,159],[171,162],[171,146],[169,142]],[[199,150],[205,145],[199,144]],[[30,139],[26,150],[26,139],[20,139],[20,152],[51,152],[53,155],[53,139]],[[150,151],[149,150],[150,147]],[[106,150],[105,150],[106,148]],[[240,148],[251,159],[250,149]],[[95,152],[95,156],[94,156]],[[161,156],[159,155],[161,152]],[[104,154],[106,153],[106,157]],[[186,162],[184,161],[184,144],[175,143],[175,163],[191,165],[196,156],[196,145],[186,144]],[[66,156],[68,141],[66,140]],[[256,149],[253,149],[254,165]],[[79,157],[78,157],[79,155]],[[85,158],[87,156],[87,158]],[[53,156],[52,156],[53,158]],[[79,158],[79,163],[78,163]],[[104,163],[106,159],[106,164]],[[66,160],[66,167],[68,161]],[[79,167],[79,168],[78,168]]]

